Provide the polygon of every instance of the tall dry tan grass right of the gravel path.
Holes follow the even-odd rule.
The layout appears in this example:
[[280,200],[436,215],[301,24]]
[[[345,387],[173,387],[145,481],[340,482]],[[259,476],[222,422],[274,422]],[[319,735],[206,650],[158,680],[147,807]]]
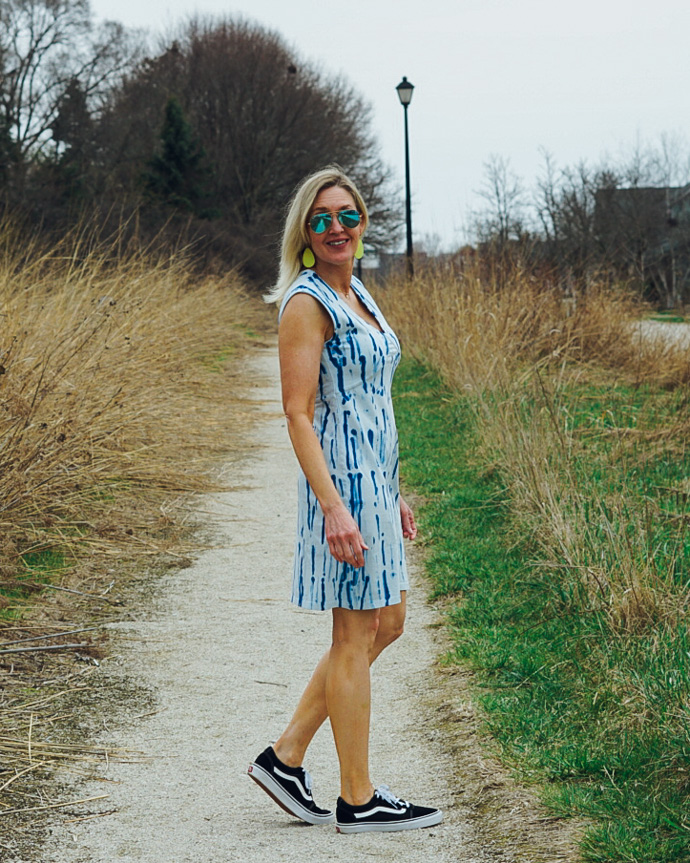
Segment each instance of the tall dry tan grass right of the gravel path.
[[[574,458],[583,441],[561,394],[574,381],[687,382],[687,349],[643,336],[644,309],[623,289],[593,284],[577,302],[564,301],[517,265],[500,286],[478,265],[429,269],[389,283],[381,301],[404,350],[473,396],[484,457],[501,467],[520,526],[554,577],[604,608],[616,627],[683,613],[690,591],[671,593],[669,573],[645,548],[649,513],[622,493],[589,497]],[[665,430],[666,442],[652,432],[652,448],[677,439],[684,423],[679,417]],[[603,432],[614,461],[645,442],[643,433],[616,431]]]

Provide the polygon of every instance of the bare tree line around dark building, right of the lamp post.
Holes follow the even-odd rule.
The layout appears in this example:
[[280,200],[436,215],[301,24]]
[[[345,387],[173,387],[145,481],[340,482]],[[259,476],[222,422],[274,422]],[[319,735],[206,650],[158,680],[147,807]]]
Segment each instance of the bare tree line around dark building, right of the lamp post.
[[596,166],[559,168],[544,153],[531,190],[493,155],[479,193],[481,248],[526,256],[566,290],[605,273],[663,308],[690,303],[690,151],[677,136]]

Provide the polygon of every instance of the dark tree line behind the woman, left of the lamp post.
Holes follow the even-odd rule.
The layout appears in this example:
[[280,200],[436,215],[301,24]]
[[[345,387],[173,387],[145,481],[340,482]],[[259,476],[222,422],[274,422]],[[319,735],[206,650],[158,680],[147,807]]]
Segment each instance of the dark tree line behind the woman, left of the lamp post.
[[278,34],[195,18],[151,50],[87,0],[0,0],[0,204],[42,231],[124,222],[265,285],[293,189],[330,162],[390,247],[398,193],[369,106]]

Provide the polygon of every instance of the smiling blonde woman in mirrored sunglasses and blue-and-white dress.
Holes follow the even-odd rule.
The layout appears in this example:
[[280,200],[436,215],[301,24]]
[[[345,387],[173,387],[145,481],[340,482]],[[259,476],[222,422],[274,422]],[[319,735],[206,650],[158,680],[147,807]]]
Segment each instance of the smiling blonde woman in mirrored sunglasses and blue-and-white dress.
[[[250,776],[292,815],[340,832],[405,830],[442,820],[369,778],[369,666],[402,634],[408,587],[403,536],[417,533],[398,491],[390,385],[398,340],[362,283],[367,209],[338,168],[308,177],[290,205],[280,278],[283,407],[302,472],[292,601],[331,610],[333,640],[274,747]],[[340,762],[335,817],[313,801],[302,768],[330,719]]]

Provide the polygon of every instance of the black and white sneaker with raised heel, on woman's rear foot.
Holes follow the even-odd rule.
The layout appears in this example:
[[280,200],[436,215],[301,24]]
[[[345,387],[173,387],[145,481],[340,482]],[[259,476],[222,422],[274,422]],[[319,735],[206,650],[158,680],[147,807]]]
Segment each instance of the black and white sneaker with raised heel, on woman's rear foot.
[[302,767],[288,767],[269,746],[249,765],[247,773],[275,802],[308,824],[332,824],[330,809],[320,809],[311,796],[311,776]]

